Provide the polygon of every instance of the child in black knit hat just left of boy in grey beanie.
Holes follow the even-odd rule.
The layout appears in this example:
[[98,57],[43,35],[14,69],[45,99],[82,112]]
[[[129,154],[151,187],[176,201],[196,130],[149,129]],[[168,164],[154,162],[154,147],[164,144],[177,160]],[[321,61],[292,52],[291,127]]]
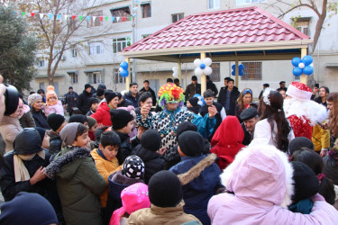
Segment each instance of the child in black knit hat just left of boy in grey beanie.
[[61,150],[62,140],[59,137],[59,132],[66,126],[67,121],[65,117],[59,114],[50,113],[47,122],[51,128],[48,133],[50,136],[50,155],[55,155]]

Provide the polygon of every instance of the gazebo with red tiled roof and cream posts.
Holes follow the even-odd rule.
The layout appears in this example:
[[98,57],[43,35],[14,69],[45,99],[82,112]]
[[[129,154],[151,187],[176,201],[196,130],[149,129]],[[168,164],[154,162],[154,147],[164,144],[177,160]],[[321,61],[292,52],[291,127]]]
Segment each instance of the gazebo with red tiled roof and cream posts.
[[[120,53],[130,58],[174,62],[193,62],[196,58],[234,61],[235,85],[238,85],[238,62],[248,60],[289,60],[303,58],[308,44],[306,34],[258,7],[238,8],[192,14],[144,38]],[[306,75],[301,76],[306,83]],[[129,88],[130,78],[126,79]],[[206,75],[201,77],[202,93]]]

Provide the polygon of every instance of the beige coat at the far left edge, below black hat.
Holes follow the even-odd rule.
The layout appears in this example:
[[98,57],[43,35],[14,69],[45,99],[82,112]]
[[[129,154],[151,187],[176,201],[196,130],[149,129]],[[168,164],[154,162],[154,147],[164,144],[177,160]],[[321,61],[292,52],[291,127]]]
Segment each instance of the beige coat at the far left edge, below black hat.
[[17,118],[5,115],[3,120],[0,121],[0,133],[6,144],[5,152],[13,149],[14,139],[20,130],[23,130],[23,128],[20,126],[19,119]]

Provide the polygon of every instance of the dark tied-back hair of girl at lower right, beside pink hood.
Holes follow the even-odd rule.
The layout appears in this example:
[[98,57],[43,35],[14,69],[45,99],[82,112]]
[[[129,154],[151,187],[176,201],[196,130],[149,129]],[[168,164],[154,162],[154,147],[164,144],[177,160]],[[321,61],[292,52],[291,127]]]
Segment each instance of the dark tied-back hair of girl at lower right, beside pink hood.
[[[301,148],[292,154],[291,161],[299,161],[306,166],[309,166],[315,175],[321,175],[323,173],[324,162],[323,158],[320,157],[314,150],[309,148]],[[334,204],[335,192],[332,180],[325,176],[320,176],[319,192],[323,195],[326,202]]]

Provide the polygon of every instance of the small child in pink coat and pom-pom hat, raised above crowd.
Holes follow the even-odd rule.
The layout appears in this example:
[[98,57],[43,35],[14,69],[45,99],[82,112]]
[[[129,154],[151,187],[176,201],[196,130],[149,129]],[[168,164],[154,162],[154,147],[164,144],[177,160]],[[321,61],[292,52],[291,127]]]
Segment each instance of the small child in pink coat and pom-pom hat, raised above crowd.
[[47,94],[46,94],[46,105],[44,108],[44,113],[46,117],[50,113],[57,113],[62,116],[65,116],[65,113],[63,111],[63,106],[61,101],[58,100],[58,96],[54,91],[54,86],[49,85],[47,87]]

